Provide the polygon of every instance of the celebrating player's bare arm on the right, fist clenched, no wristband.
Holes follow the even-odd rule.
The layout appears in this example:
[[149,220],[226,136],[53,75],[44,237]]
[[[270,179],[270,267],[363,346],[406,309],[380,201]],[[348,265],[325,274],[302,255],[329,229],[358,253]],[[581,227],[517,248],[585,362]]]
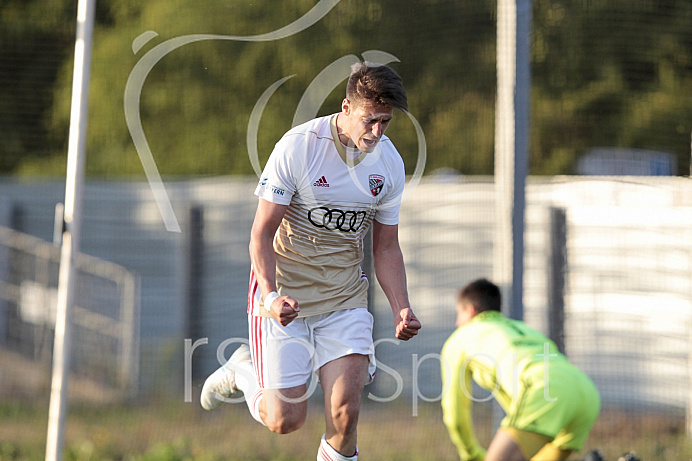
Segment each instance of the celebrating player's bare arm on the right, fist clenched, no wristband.
[[408,341],[418,334],[421,323],[408,299],[404,256],[399,246],[399,226],[374,220],[372,248],[375,274],[394,314],[396,337]]

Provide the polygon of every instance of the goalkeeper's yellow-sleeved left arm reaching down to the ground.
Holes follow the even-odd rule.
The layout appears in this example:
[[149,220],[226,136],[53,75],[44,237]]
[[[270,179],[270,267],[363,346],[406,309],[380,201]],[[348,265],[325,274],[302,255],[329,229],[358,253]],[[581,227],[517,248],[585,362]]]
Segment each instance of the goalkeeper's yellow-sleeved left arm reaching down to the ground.
[[485,450],[473,430],[471,372],[466,354],[450,337],[442,348],[442,416],[462,461],[483,461]]

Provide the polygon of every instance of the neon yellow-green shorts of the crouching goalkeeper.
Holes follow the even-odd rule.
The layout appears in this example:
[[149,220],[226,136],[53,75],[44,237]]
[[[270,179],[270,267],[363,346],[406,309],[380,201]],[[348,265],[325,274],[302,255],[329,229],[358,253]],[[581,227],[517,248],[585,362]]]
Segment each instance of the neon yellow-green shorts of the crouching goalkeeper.
[[[533,366],[522,376],[522,390],[507,409],[502,427],[543,436],[559,450],[579,451],[601,409],[598,390],[584,372],[569,363],[555,364],[547,370],[549,373],[542,365]],[[520,432],[509,432],[515,439],[521,437]],[[522,445],[531,451],[538,444],[536,440],[516,441],[522,451]],[[531,458],[535,453],[524,455]]]

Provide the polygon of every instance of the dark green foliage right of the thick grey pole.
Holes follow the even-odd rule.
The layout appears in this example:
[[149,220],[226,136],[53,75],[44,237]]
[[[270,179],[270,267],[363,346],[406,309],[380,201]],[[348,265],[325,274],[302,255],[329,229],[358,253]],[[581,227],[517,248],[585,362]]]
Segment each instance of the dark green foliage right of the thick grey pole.
[[590,147],[671,152],[689,171],[692,4],[534,1],[531,172]]

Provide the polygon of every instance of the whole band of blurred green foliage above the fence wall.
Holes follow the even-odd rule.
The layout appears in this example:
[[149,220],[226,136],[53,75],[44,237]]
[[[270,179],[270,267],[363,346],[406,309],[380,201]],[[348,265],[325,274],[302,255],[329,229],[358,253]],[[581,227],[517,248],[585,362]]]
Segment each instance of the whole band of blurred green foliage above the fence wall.
[[[254,35],[302,17],[317,2],[97,2],[87,173],[141,176],[123,95],[135,64],[181,35]],[[686,0],[534,0],[530,172],[569,174],[596,146],[678,156],[688,171],[692,132],[692,3]],[[246,134],[262,92],[271,98],[260,161],[290,128],[312,79],[346,55],[382,50],[401,62],[411,113],[423,127],[426,171],[493,172],[495,9],[491,1],[342,0],[299,34],[270,42],[207,40],[168,54],[148,75],[143,128],[164,175],[250,174]],[[0,4],[0,173],[62,175],[72,92],[75,7],[67,0]],[[158,35],[137,52],[146,31]],[[320,115],[339,109],[343,88]],[[388,135],[413,172],[417,138],[400,114]]]

